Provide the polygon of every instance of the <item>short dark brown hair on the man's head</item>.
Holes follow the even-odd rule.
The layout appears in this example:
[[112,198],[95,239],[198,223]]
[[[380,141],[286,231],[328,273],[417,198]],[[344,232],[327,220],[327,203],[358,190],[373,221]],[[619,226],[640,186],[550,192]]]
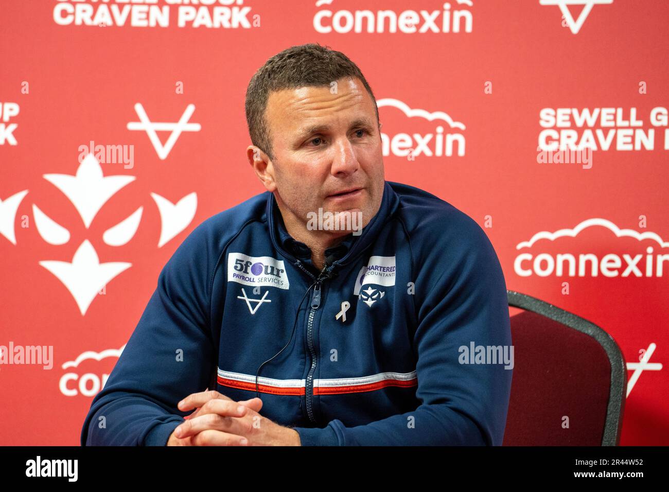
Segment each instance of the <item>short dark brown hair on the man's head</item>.
[[246,123],[253,145],[274,159],[272,138],[265,118],[271,92],[330,86],[334,80],[343,77],[357,77],[363,82],[374,102],[378,123],[379,108],[371,87],[363,72],[342,52],[312,43],[292,46],[272,56],[254,74],[246,89]]

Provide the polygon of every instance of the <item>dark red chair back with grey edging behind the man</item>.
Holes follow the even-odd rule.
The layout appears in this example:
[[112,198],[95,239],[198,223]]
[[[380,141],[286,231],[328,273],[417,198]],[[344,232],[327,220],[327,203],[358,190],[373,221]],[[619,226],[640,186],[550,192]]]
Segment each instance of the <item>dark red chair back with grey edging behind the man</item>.
[[564,309],[506,293],[524,312],[510,319],[514,369],[502,445],[617,446],[627,371],[613,337]]

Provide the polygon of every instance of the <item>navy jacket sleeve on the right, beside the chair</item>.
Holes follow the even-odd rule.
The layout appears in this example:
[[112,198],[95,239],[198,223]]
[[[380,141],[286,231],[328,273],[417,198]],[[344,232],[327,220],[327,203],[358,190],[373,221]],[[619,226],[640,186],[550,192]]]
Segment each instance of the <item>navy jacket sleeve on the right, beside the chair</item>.
[[[502,444],[513,370],[506,283],[488,236],[470,221],[458,253],[446,256],[442,250],[438,260],[421,268],[440,272],[432,275],[437,280],[421,289],[422,273],[417,277],[413,346],[420,405],[361,426],[349,428],[335,419],[322,429],[295,428],[302,445]],[[510,362],[463,363],[465,355],[476,360],[472,344],[502,353],[506,347]]]

